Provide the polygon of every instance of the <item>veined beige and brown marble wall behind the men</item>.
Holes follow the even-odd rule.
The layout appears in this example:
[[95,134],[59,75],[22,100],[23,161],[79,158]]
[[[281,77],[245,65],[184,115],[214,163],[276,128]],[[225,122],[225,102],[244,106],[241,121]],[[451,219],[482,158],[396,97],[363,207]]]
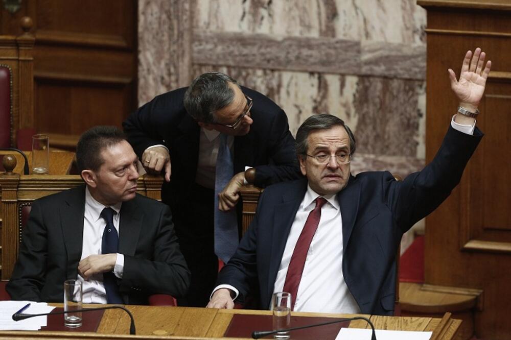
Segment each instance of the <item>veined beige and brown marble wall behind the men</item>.
[[140,104],[220,70],[357,137],[353,172],[424,165],[426,12],[415,0],[139,0]]

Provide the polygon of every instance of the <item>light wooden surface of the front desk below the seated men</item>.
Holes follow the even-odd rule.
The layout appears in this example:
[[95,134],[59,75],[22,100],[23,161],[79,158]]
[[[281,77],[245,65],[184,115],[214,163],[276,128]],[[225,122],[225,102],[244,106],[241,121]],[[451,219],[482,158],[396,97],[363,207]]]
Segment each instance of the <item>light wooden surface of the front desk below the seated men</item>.
[[[61,304],[59,306],[62,306]],[[240,314],[266,314],[267,310],[225,310],[191,307],[166,307],[166,306],[126,306],[135,319],[136,336],[128,335],[129,317],[117,309],[105,310],[103,319],[98,328],[98,333],[71,333],[60,332],[26,332],[4,331],[0,332],[0,338],[101,338],[101,339],[129,339],[129,338],[166,338],[166,339],[215,339],[222,338],[230,320],[235,313]],[[296,312],[293,315],[303,317],[331,317],[347,318],[354,315],[348,314],[322,314]],[[362,315],[368,317],[368,315]],[[412,330],[434,331],[441,329],[441,339],[451,339],[456,333],[460,320],[449,318],[411,318],[411,317],[382,317],[372,316],[371,322],[377,329],[389,330]],[[363,321],[353,321],[350,328],[369,328]],[[110,335],[108,335],[110,334]],[[227,338],[234,339],[234,338]]]

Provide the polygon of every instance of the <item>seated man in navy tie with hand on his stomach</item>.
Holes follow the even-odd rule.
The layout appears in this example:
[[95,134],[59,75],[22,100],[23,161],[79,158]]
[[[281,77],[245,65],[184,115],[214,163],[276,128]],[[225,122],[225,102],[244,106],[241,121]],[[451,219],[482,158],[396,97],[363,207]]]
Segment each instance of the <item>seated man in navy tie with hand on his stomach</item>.
[[169,208],[135,193],[137,158],[123,133],[96,127],[78,142],[86,185],[34,201],[7,292],[62,302],[63,283],[83,283],[85,303],[147,304],[182,296],[190,272]]

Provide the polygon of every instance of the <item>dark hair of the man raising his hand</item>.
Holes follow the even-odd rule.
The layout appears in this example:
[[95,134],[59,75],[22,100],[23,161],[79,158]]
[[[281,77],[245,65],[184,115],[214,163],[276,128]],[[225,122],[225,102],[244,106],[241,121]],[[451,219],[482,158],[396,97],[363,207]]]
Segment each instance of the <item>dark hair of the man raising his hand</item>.
[[344,130],[346,130],[348,138],[350,138],[350,154],[353,155],[355,153],[356,143],[353,132],[346,124],[344,124],[344,120],[328,113],[312,115],[305,119],[305,122],[300,125],[298,132],[296,133],[296,155],[301,156],[307,153],[307,148],[309,147],[307,144],[307,138],[311,131],[328,130],[334,126],[342,126],[344,127]]

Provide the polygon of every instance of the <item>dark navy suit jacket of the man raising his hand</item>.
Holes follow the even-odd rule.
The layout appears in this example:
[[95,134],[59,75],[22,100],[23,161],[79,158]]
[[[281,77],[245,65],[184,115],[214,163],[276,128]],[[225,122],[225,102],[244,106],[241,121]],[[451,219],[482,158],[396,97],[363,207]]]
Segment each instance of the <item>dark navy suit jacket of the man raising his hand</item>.
[[[449,196],[481,137],[478,129],[470,136],[449,128],[437,155],[421,172],[402,182],[388,172],[361,173],[351,176],[338,193],[342,273],[362,313],[392,314],[401,236]],[[268,308],[286,240],[306,190],[307,180],[266,188],[253,223],[217,284],[236,287],[244,298],[249,283],[258,280],[260,307]]]

